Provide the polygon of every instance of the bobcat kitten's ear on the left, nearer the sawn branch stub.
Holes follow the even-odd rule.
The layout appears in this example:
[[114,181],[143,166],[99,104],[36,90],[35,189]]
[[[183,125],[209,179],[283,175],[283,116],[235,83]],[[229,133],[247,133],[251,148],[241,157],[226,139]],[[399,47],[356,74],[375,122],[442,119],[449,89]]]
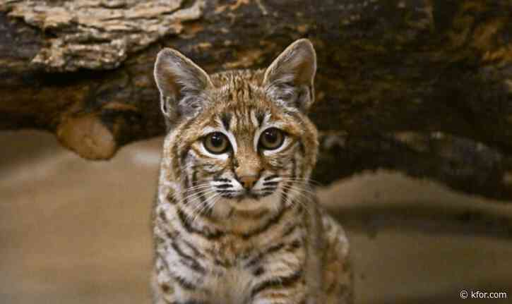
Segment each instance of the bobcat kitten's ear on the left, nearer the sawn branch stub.
[[207,102],[203,91],[213,87],[202,68],[174,49],[162,49],[158,53],[155,81],[160,90],[162,113],[169,121],[198,113]]

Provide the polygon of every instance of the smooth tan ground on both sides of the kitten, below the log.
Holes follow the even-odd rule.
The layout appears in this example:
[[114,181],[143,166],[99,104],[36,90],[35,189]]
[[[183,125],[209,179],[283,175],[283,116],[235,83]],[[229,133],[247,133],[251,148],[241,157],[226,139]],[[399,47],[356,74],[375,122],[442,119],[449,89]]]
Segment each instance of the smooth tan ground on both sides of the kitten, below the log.
[[[149,303],[161,144],[89,162],[47,133],[0,133],[0,303]],[[346,224],[357,303],[512,303],[511,231],[445,216],[512,223],[512,204],[380,171],[320,196]],[[462,300],[463,289],[508,299]]]

